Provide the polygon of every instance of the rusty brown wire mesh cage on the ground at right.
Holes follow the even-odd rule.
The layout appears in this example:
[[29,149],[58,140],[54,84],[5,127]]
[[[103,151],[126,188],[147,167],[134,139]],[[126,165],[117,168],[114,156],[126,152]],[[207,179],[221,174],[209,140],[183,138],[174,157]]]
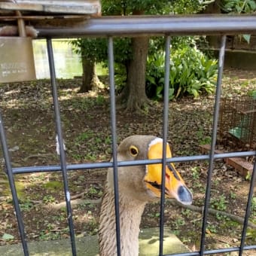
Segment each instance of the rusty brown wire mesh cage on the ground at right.
[[256,147],[256,98],[224,98],[220,107],[220,139],[239,147]]

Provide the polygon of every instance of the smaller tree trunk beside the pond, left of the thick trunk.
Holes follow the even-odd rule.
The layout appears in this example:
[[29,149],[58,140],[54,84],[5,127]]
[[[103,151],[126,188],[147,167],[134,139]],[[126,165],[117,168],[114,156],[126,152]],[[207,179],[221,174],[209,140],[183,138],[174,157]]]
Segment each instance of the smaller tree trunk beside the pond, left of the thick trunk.
[[83,77],[82,85],[78,93],[87,93],[90,90],[97,90],[100,81],[96,75],[96,65],[94,62],[82,58]]

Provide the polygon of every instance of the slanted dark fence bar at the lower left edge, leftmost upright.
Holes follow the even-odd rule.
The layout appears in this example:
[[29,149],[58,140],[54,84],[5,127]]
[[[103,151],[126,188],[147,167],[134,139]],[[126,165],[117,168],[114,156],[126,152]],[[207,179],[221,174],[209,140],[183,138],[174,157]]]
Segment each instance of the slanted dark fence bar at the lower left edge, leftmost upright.
[[0,112],[0,139],[1,139],[2,150],[3,150],[3,154],[4,154],[4,158],[5,158],[5,166],[6,166],[6,170],[7,170],[7,174],[8,174],[9,185],[11,187],[11,195],[12,195],[13,201],[14,201],[14,209],[15,209],[17,223],[18,223],[18,227],[19,227],[19,231],[20,231],[20,239],[21,239],[21,242],[23,245],[23,252],[24,252],[25,256],[29,256],[28,245],[26,242],[26,233],[25,233],[24,224],[23,224],[23,217],[21,214],[17,190],[16,190],[15,183],[14,183],[14,175],[13,175],[12,168],[11,168],[11,159],[10,159],[9,152],[8,152],[8,144],[7,144],[7,139],[5,136],[5,127],[4,127],[4,123],[2,120],[1,112]]

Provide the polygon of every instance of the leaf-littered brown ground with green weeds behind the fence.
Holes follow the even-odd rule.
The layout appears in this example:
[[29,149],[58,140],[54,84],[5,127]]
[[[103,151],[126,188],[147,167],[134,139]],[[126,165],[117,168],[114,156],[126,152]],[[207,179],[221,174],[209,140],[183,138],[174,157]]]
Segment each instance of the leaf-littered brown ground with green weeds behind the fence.
[[[241,96],[256,90],[253,72],[227,70],[224,95]],[[108,161],[111,158],[108,89],[95,95],[77,94],[80,80],[60,80],[59,99],[62,112],[66,154],[69,163]],[[0,100],[13,166],[58,164],[55,125],[50,81],[5,84],[0,87]],[[169,142],[176,156],[201,154],[199,145],[211,140],[213,96],[181,99],[169,105]],[[162,134],[163,105],[143,116],[117,111],[118,142],[132,134]],[[218,146],[224,150],[227,148]],[[239,148],[236,148],[238,150]],[[0,171],[0,245],[19,241],[17,222],[12,206],[8,180],[1,157]],[[194,192],[194,205],[203,206],[206,188],[207,162],[178,163],[178,169]],[[105,180],[105,169],[69,172],[75,233],[87,236],[97,233],[99,203]],[[29,240],[59,239],[69,236],[66,222],[62,175],[34,173],[16,175],[15,181],[23,210]],[[222,161],[215,163],[212,178],[211,208],[243,216],[249,182]],[[59,208],[56,208],[59,206]],[[250,221],[256,224],[256,196]],[[192,250],[200,247],[202,215],[166,203],[166,225]],[[159,204],[148,205],[142,227],[159,226]],[[222,215],[210,215],[206,233],[206,248],[239,246],[242,225]],[[255,245],[256,230],[248,228],[246,244]],[[255,251],[245,255],[256,255]]]

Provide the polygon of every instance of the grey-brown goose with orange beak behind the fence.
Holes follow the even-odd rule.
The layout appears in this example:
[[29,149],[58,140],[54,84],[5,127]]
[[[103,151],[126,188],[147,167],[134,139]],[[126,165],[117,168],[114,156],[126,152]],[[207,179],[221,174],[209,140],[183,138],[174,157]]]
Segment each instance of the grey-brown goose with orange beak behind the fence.
[[[127,137],[117,148],[117,160],[160,159],[163,157],[163,139],[156,136]],[[166,145],[166,157],[172,157]],[[145,204],[160,197],[162,164],[120,166],[117,169],[120,212],[121,256],[139,255],[139,224]],[[166,164],[165,194],[183,204],[192,203],[192,194],[184,184],[173,163]],[[117,255],[114,175],[108,169],[102,205],[99,214],[99,254]]]

